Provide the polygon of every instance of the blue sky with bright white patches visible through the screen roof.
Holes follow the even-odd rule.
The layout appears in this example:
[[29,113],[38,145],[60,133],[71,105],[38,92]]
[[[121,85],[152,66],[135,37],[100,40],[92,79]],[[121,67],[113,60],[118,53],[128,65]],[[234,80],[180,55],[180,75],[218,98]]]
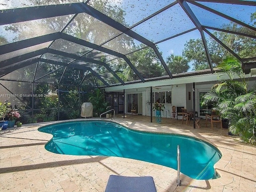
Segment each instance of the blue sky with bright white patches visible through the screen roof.
[[[0,0],[0,9],[33,6],[33,2],[34,1],[32,0]],[[44,4],[49,3],[47,0],[45,2]],[[82,2],[82,0],[56,0],[56,2],[74,3]],[[95,2],[97,2],[97,0],[90,0],[89,5],[93,6]],[[124,10],[126,13],[126,24],[128,26],[133,26],[140,20],[171,4],[174,2],[174,0],[109,0],[108,2],[110,6],[117,6],[118,8]],[[234,17],[237,20],[245,22],[246,24],[250,24],[250,15],[256,11],[255,6],[242,6],[210,2],[200,3],[210,8],[214,8],[219,12],[224,12],[228,16]],[[224,24],[230,23],[230,20],[224,19],[207,10],[203,10],[202,8],[198,8],[193,4],[189,4],[189,6],[202,25],[221,27]],[[3,27],[4,26],[0,26],[0,35],[6,36],[9,39],[12,39],[17,35],[6,33]],[[160,40],[169,38],[183,31],[190,30],[194,27],[194,24],[191,22],[190,18],[188,18],[184,10],[179,6],[179,4],[176,4],[164,12],[161,12],[156,16],[146,20],[142,24],[133,27],[132,30],[140,36],[156,43]],[[190,39],[197,38],[201,38],[200,33],[198,30],[194,30],[182,36],[161,42],[157,44],[157,46],[159,51],[162,52],[164,60],[166,60],[170,54],[182,55],[184,44]]]

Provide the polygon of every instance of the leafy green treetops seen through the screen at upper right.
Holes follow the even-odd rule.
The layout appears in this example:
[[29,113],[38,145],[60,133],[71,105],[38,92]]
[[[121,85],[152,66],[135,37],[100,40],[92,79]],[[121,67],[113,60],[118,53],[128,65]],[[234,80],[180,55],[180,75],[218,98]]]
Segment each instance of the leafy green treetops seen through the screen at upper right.
[[[256,12],[251,15],[251,23],[256,26]],[[256,35],[256,32],[240,26],[236,23],[230,22],[230,24],[223,25],[224,30],[233,32],[240,32],[243,34]],[[256,55],[256,39],[238,34],[232,34],[228,32],[214,31],[212,34],[223,42],[230,50],[236,53],[241,58],[252,58]],[[224,58],[232,56],[226,48],[216,42],[213,38],[209,37],[206,39],[210,57],[212,59],[213,67],[218,66]],[[190,39],[186,42],[182,53],[189,62],[192,62],[193,70],[202,70],[209,68],[204,44],[202,39]]]

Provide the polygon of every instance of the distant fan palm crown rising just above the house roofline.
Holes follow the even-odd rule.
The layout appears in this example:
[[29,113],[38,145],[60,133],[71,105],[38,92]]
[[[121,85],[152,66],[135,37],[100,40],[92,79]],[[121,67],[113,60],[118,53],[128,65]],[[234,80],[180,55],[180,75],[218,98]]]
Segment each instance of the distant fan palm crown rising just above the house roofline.
[[184,73],[189,69],[188,60],[183,58],[182,56],[171,54],[167,57],[168,67],[172,74]]

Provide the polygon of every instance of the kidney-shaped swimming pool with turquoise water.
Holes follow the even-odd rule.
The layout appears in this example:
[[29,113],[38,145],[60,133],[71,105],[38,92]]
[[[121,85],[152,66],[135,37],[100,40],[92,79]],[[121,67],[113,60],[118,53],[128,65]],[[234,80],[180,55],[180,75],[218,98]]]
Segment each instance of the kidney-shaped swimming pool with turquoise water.
[[218,177],[214,164],[221,158],[220,151],[192,137],[140,132],[102,120],[63,122],[38,130],[53,135],[45,146],[50,152],[132,158],[176,170],[177,146],[180,145],[183,174],[194,179]]

